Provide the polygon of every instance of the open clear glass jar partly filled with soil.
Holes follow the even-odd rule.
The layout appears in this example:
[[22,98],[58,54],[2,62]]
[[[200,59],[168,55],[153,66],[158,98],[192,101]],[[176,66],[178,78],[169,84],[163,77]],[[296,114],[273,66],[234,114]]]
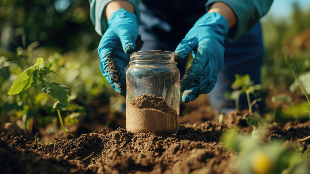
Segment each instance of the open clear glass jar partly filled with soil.
[[138,51],[126,72],[126,129],[175,135],[179,130],[180,71],[170,51]]

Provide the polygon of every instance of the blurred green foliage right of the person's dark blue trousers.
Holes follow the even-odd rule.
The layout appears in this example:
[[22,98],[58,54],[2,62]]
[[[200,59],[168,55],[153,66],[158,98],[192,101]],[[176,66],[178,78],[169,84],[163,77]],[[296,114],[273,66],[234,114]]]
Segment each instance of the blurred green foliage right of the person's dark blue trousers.
[[292,14],[282,20],[269,16],[263,20],[265,44],[262,83],[265,88],[277,86],[288,90],[294,82],[289,64],[296,66],[298,75],[310,71],[310,8],[302,11],[293,4]]

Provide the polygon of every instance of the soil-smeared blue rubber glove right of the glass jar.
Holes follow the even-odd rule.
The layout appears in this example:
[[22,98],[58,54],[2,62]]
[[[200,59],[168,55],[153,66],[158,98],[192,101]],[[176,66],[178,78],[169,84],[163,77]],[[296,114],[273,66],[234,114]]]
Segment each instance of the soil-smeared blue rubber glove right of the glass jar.
[[176,62],[187,58],[194,51],[196,56],[180,80],[184,91],[182,101],[195,100],[200,94],[209,93],[215,86],[217,74],[224,63],[224,38],[228,22],[217,12],[206,13],[194,24],[177,46]]

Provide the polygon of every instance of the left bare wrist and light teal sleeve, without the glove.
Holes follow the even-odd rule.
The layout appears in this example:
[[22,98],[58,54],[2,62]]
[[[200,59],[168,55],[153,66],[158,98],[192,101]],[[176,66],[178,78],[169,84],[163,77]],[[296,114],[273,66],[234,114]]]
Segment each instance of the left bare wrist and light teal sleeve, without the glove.
[[[108,28],[108,20],[106,17],[110,16],[114,11],[117,11],[118,7],[121,7],[127,11],[133,12],[137,15],[138,23],[140,19],[139,0],[123,0],[123,1],[113,1],[113,0],[88,0],[90,3],[90,17],[92,23],[95,25],[96,32],[102,36],[105,30]],[[110,4],[110,5],[109,5]],[[107,10],[107,6],[111,10]],[[134,10],[131,9],[134,7]],[[116,8],[118,8],[116,10]],[[113,11],[113,12],[112,12]]]

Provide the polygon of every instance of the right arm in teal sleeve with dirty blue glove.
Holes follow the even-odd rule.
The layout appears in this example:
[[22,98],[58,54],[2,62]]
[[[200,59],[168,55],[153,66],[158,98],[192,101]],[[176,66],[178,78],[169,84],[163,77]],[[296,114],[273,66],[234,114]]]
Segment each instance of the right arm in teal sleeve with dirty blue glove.
[[263,2],[267,0],[207,2],[207,13],[197,20],[175,49],[176,62],[186,59],[192,51],[195,53],[191,66],[180,80],[184,103],[214,88],[224,64],[225,37],[234,41],[248,31],[267,13],[271,0],[269,5]]

